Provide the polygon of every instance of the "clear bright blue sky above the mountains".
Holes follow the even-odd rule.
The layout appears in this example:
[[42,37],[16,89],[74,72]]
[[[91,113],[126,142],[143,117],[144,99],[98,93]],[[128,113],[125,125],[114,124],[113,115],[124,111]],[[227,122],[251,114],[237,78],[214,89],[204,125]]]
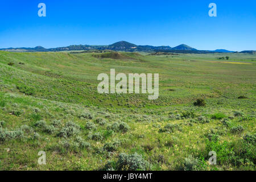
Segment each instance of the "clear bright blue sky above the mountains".
[[[46,17],[38,4],[46,3]],[[209,3],[217,17],[210,17]],[[197,49],[256,50],[256,1],[2,0],[0,48],[187,44]]]

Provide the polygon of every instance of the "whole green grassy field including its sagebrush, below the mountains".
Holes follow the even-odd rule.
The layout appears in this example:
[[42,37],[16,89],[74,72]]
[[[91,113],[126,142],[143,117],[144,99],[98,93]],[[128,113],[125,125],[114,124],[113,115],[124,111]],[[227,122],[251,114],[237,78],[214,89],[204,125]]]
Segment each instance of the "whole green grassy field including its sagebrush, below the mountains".
[[[112,56],[0,51],[0,170],[255,170],[256,55]],[[159,73],[158,100],[98,94],[111,68]]]

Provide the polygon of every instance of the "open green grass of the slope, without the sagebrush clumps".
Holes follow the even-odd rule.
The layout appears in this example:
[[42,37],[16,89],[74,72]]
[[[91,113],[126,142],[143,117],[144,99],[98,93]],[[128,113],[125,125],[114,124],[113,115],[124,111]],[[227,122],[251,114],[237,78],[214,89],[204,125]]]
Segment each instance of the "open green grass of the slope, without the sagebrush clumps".
[[[108,160],[116,161],[121,152],[141,154],[152,164],[151,169],[179,169],[184,167],[183,160],[189,155],[206,157],[205,135],[210,129],[224,133],[218,135],[220,143],[229,143],[227,150],[240,144],[246,133],[255,134],[255,55],[142,56],[123,53],[133,59],[113,60],[97,59],[93,54],[0,52],[0,121],[5,121],[3,127],[9,130],[28,125],[40,134],[39,139],[31,139],[28,134],[22,140],[1,142],[0,169],[100,169]],[[226,55],[230,60],[217,60]],[[14,66],[7,65],[9,62]],[[159,99],[148,101],[143,94],[98,94],[97,75],[109,73],[110,68],[122,73],[159,73]],[[34,90],[32,96],[20,92],[17,86],[23,85]],[[247,99],[239,100],[238,96]],[[193,106],[193,101],[201,97],[205,98],[207,106]],[[170,117],[184,111],[193,111],[196,117]],[[242,111],[250,119],[242,118],[239,122],[241,118],[235,117],[230,126],[224,126],[220,119],[210,119],[214,113],[232,116],[233,111]],[[94,118],[79,118],[84,112],[92,113]],[[210,122],[196,123],[200,115]],[[110,134],[106,126],[96,123],[97,117],[106,118],[107,125],[124,121],[130,130]],[[81,127],[79,135],[91,147],[63,149],[60,143],[64,139],[56,137],[61,127],[47,134],[34,126],[42,119],[48,125],[53,119],[60,119],[62,123],[74,121]],[[96,123],[95,130],[85,128],[89,120]],[[160,133],[159,128],[167,123],[177,123],[181,129]],[[244,131],[232,133],[232,127],[239,125]],[[88,139],[93,133],[101,133],[104,139]],[[122,141],[117,150],[102,151],[105,143],[116,138]],[[47,152],[46,166],[37,164],[40,150]],[[255,169],[254,164],[238,165],[230,160],[218,163],[217,168],[205,165],[204,169]]]

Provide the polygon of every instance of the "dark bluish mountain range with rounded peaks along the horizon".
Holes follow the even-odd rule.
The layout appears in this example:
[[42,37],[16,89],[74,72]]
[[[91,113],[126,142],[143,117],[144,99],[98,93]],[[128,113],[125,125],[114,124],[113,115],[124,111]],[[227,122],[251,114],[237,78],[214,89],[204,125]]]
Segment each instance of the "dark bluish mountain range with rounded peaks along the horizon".
[[[170,46],[137,46],[135,44],[120,41],[109,46],[90,46],[90,45],[72,45],[67,47],[57,47],[57,48],[49,48],[46,49],[42,46],[36,46],[34,48],[4,48],[0,49],[0,51],[11,51],[11,52],[58,52],[58,51],[89,51],[89,50],[112,50],[112,51],[146,51],[146,52],[174,52],[174,53],[214,53],[214,52],[233,52],[228,51],[226,49],[216,49],[215,51],[203,51],[197,50],[185,44],[181,44],[174,48]],[[256,51],[242,51],[241,53],[256,53]]]

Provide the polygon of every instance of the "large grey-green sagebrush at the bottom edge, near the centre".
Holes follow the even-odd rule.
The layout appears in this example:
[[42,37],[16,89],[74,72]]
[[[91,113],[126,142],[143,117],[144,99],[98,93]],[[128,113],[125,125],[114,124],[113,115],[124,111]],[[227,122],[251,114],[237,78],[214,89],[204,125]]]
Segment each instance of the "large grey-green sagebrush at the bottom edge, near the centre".
[[137,170],[148,170],[150,164],[142,158],[142,155],[137,153],[134,154],[119,154],[117,161],[118,171],[137,171]]

